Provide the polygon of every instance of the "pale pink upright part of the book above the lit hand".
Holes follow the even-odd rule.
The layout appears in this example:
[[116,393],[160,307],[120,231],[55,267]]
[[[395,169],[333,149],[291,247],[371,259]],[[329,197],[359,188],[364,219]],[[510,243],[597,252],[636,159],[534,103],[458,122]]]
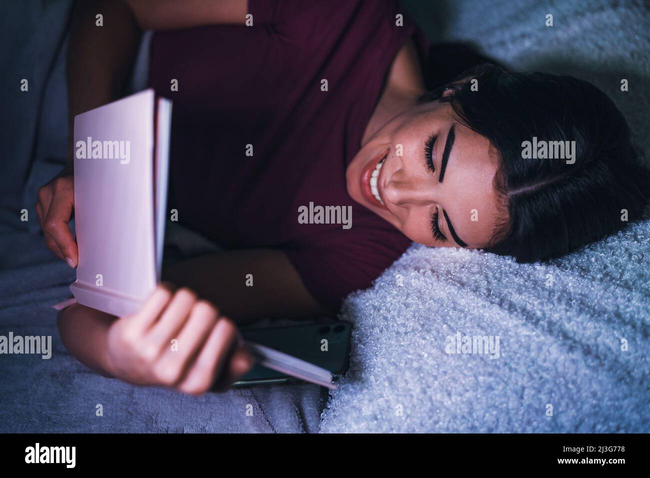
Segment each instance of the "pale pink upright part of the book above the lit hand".
[[171,116],[151,89],[75,116],[80,304],[127,315],[160,280]]

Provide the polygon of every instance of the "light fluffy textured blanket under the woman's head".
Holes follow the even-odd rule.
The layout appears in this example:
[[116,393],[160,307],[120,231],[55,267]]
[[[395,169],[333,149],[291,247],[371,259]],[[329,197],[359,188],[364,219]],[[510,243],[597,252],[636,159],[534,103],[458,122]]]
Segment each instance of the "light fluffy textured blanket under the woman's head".
[[350,297],[326,432],[647,432],[650,222],[545,265],[413,246]]

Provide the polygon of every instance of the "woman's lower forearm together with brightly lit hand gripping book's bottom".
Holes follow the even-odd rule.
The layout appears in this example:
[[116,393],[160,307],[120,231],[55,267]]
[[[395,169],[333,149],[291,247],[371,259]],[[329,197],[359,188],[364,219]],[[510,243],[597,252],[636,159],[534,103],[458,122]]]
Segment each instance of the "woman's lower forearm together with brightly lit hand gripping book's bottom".
[[73,304],[59,313],[59,331],[79,362],[134,385],[226,390],[253,365],[233,322],[183,288],[161,285],[138,312],[120,318]]

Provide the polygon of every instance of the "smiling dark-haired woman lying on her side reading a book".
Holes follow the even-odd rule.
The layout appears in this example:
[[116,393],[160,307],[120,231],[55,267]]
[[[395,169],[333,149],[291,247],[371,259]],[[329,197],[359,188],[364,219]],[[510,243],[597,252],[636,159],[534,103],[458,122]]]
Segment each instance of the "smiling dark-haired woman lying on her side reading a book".
[[[141,29],[157,31],[151,85],[174,101],[170,207],[227,250],[166,269],[183,287],[160,287],[132,316],[60,314],[66,347],[104,375],[224,388],[252,364],[224,316],[335,312],[411,241],[561,256],[647,204],[649,174],[603,92],[491,65],[432,90],[426,42],[393,0],[80,3],[71,118],[118,98]],[[526,154],[526,141],[560,157]],[[75,267],[72,169],[42,187],[37,210]]]

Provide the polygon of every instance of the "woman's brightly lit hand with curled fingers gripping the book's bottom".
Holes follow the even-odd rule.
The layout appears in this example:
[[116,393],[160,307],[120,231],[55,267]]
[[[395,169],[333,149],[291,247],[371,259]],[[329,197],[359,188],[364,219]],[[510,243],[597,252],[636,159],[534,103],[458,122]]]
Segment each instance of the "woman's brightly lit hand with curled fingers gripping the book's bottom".
[[198,395],[227,390],[253,356],[226,317],[187,288],[159,286],[139,312],[112,323],[107,367],[120,380]]

